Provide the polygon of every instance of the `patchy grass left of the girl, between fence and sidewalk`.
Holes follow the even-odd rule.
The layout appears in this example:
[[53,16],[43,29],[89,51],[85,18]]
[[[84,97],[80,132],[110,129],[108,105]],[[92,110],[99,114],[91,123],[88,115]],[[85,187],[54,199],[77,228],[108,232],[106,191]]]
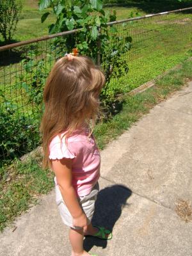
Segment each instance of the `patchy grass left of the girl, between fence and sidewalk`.
[[13,222],[15,216],[38,204],[38,198],[53,187],[53,173],[40,168],[41,158],[15,161],[8,169],[1,168],[0,230]]

